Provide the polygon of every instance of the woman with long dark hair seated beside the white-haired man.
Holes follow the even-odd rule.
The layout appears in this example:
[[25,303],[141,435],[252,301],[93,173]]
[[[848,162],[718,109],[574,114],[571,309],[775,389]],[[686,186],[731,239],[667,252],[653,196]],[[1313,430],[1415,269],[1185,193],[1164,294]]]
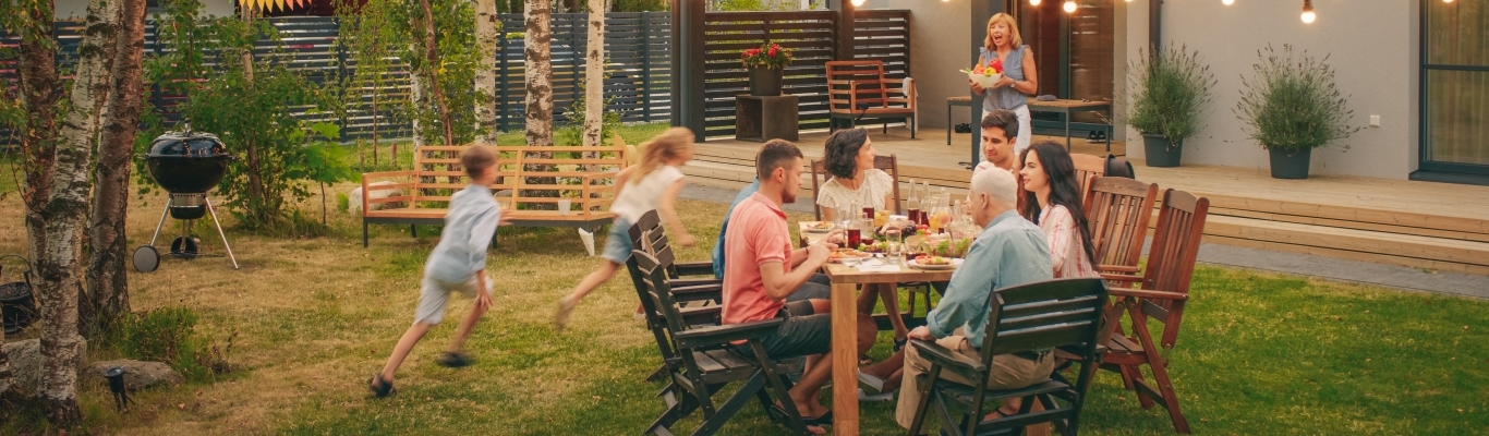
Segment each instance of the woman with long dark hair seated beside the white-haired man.
[[1018,213],[1050,238],[1054,278],[1100,277],[1071,153],[1057,143],[1039,141],[1020,159],[1026,198]]

